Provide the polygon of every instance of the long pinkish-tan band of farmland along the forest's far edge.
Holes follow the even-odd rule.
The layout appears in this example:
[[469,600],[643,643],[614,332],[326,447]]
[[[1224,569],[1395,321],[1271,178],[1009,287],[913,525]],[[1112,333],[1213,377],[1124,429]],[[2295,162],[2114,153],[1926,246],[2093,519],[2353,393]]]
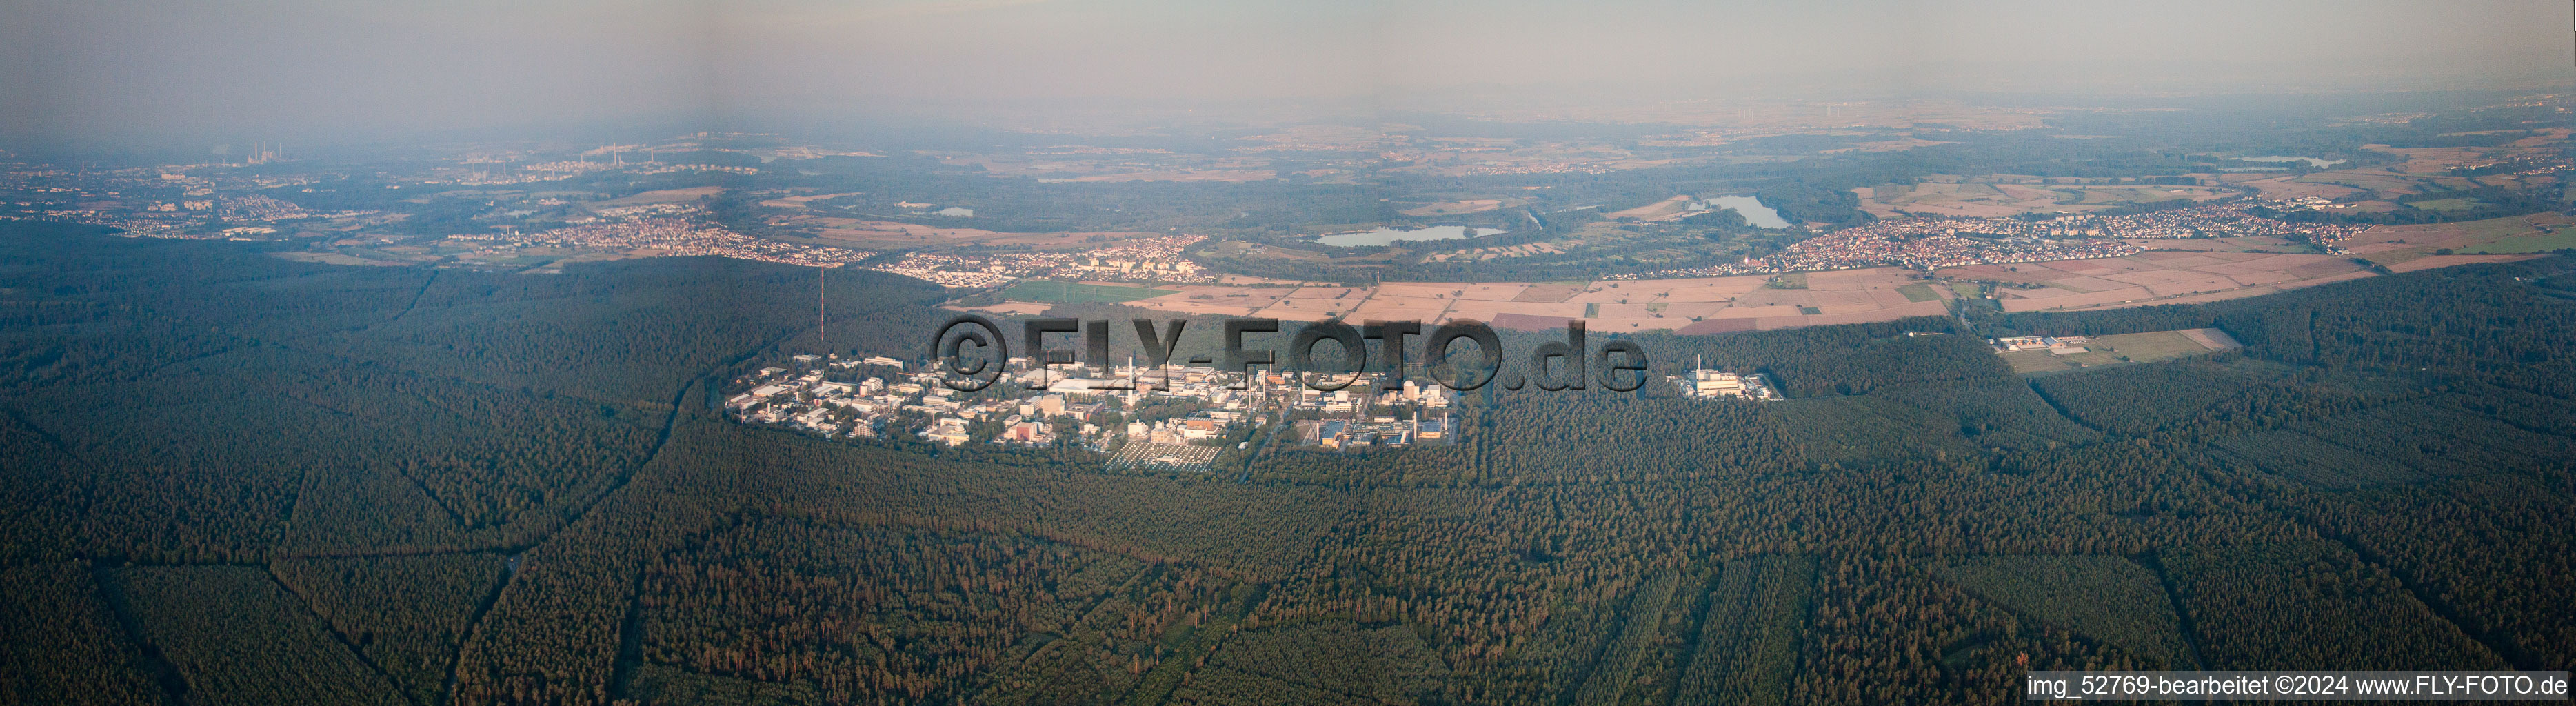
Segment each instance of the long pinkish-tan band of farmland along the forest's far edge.
[[[2324,255],[2277,237],[2133,240],[2156,247],[2125,258],[1996,263],[1942,268],[1932,278],[1904,268],[1721,276],[1669,281],[1548,281],[1548,283],[1381,283],[1329,286],[1285,281],[1206,286],[1100,286],[1087,294],[1005,291],[1015,301],[1126,301],[1175,314],[1226,314],[1273,320],[1481,320],[1497,327],[1551,330],[1564,320],[1589,320],[1602,332],[1677,330],[1687,335],[1780,330],[1806,325],[1886,322],[1937,317],[1950,299],[1991,286],[2004,312],[2120,309],[2262,296],[2300,286],[2367,278],[2370,263],[2391,271],[2499,263],[2576,247],[2576,219],[2532,214],[2514,219],[2372,227],[2347,242],[2349,255]],[[2452,255],[2434,255],[2437,250]],[[1278,250],[1278,247],[1265,247]],[[1293,255],[1293,253],[1280,253]],[[2354,263],[2365,258],[2370,263]]]

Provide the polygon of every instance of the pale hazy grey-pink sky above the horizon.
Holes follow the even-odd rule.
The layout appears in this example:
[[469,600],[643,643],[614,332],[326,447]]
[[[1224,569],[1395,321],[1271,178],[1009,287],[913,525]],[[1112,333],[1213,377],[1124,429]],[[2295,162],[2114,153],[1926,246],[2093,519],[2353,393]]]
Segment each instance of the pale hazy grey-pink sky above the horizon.
[[15,0],[13,139],[399,134],[1193,100],[2566,82],[2512,3]]

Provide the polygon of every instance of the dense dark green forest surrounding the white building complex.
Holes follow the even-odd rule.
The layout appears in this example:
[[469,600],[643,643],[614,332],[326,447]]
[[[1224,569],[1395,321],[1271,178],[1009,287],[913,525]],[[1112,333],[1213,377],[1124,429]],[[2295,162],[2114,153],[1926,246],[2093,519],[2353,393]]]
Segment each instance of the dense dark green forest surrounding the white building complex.
[[[2004,703],[2053,667],[2555,670],[2571,265],[1638,335],[1656,374],[1705,356],[1790,399],[1489,386],[1455,446],[1170,474],[721,420],[765,356],[920,356],[945,294],[912,278],[832,278],[817,340],[783,265],[335,268],[0,224],[0,703]],[[2177,327],[2246,348],[2025,379],[1971,338]]]

